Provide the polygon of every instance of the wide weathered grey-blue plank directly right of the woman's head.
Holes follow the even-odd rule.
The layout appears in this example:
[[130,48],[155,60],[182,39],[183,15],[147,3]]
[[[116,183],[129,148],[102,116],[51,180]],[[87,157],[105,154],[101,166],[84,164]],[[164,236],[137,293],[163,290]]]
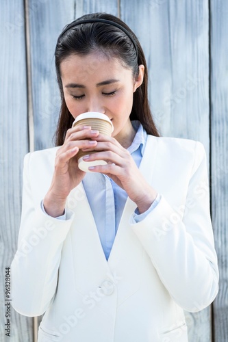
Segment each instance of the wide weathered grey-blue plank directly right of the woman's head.
[[[121,0],[121,18],[138,36],[149,67],[153,116],[165,136],[209,137],[207,1]],[[186,294],[187,295],[187,294]],[[189,341],[211,341],[210,308],[186,313]]]

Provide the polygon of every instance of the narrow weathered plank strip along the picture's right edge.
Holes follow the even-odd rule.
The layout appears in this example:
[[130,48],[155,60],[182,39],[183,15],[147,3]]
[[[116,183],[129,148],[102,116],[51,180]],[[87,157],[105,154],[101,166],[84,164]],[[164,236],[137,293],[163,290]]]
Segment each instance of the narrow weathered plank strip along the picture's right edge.
[[212,221],[220,269],[215,341],[228,341],[228,2],[211,0]]

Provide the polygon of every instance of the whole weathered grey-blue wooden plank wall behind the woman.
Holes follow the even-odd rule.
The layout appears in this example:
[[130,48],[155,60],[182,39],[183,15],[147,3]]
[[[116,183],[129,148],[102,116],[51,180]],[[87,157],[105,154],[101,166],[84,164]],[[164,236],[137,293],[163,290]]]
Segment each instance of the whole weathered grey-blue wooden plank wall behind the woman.
[[[149,66],[151,108],[161,134],[199,140],[206,148],[220,292],[213,306],[200,313],[186,313],[186,321],[190,342],[228,341],[226,0],[14,0],[1,3],[0,25],[4,32],[4,53],[0,55],[3,81],[0,93],[1,298],[4,298],[5,267],[10,265],[16,251],[23,155],[29,149],[53,146],[60,107],[53,60],[55,42],[64,25],[89,12],[120,16],[140,39]],[[25,23],[29,37],[25,36]],[[31,103],[27,94],[31,94]],[[30,146],[29,134],[34,137]],[[3,322],[3,300],[0,310]],[[40,319],[38,317],[38,322]],[[11,331],[12,342],[33,341],[32,319],[12,309]],[[0,324],[0,341],[8,341],[3,324]]]

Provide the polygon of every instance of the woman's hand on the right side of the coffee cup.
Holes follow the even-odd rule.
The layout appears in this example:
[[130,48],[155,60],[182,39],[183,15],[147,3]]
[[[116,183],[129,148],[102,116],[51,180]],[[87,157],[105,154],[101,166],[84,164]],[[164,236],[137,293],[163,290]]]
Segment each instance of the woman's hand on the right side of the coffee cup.
[[138,206],[140,213],[149,209],[157,192],[144,179],[128,150],[123,148],[114,137],[99,134],[92,139],[96,140],[97,145],[92,149],[83,148],[83,150],[85,152],[97,150],[97,153],[84,157],[84,160],[102,159],[107,161],[107,165],[94,166],[90,171],[102,172],[110,176],[116,184],[125,189],[129,198]]

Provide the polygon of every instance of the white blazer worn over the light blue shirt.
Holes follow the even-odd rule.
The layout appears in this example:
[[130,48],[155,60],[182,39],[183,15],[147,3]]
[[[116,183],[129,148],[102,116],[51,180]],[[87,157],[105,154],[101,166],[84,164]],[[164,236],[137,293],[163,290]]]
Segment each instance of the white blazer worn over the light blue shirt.
[[200,311],[218,292],[203,145],[147,137],[140,170],[162,199],[136,223],[127,198],[108,261],[82,184],[68,196],[66,221],[42,212],[55,153],[25,157],[15,310],[45,313],[39,342],[188,341],[183,310]]

